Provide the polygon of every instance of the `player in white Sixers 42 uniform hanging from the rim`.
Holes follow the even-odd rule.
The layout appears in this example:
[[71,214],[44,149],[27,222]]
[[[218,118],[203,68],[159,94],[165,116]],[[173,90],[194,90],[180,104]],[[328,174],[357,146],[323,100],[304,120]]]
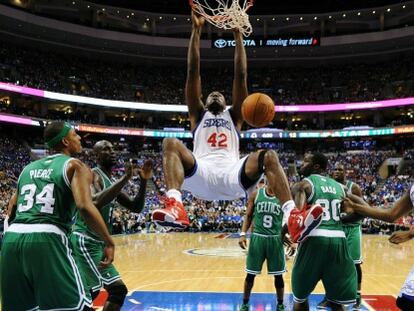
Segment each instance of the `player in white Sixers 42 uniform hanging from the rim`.
[[[204,200],[234,200],[247,197],[263,173],[283,210],[291,211],[295,204],[276,152],[262,150],[240,159],[239,131],[243,124],[241,105],[248,95],[247,59],[242,34],[237,29],[233,31],[236,49],[231,108],[226,110],[226,100],[220,92],[210,93],[204,105],[201,101],[200,79],[200,35],[204,18],[193,12],[192,22],[185,97],[194,151],[188,150],[178,139],[164,140],[167,199],[164,209],[153,212],[153,221],[162,226],[184,229],[189,225],[189,220],[182,204],[181,189]],[[308,213],[307,217],[314,216]],[[304,227],[300,223],[297,231],[304,230]]]

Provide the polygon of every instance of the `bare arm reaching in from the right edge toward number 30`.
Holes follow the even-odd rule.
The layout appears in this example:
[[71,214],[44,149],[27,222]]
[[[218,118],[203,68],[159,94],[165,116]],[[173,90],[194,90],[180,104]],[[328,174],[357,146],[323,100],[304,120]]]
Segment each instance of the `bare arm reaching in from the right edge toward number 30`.
[[348,194],[342,204],[342,211],[345,213],[356,212],[358,214],[379,219],[386,222],[394,222],[398,218],[408,214],[413,209],[413,203],[410,199],[410,191],[407,191],[394,206],[389,209],[371,207],[363,199]]

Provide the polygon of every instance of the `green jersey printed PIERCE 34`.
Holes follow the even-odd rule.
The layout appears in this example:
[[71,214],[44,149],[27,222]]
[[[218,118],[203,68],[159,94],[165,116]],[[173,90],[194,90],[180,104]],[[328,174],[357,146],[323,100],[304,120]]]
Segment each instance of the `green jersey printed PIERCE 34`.
[[52,224],[68,232],[76,205],[66,175],[72,160],[55,154],[27,165],[17,184],[17,211],[14,223]]

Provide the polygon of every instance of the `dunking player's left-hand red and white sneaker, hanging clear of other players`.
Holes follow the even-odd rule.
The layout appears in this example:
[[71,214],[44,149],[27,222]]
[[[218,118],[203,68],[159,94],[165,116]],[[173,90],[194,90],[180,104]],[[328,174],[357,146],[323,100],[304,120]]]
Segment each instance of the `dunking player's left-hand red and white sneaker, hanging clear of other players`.
[[165,208],[152,212],[152,221],[162,227],[185,229],[190,225],[184,205],[174,198],[164,199]]

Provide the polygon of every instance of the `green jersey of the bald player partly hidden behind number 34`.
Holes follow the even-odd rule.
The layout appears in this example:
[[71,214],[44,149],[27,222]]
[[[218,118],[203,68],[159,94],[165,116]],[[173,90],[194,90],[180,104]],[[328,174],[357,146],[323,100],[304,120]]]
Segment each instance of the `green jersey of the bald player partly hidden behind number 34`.
[[[102,178],[103,190],[112,185],[111,179],[99,167],[95,167],[94,169],[92,169],[92,171],[97,173]],[[110,233],[112,233],[112,212],[113,212],[113,209],[114,209],[114,203],[109,203],[105,206],[102,206],[99,209],[99,211],[102,215],[102,218],[105,221],[106,227],[108,228],[108,231]],[[100,239],[99,236],[95,232],[93,232],[92,229],[90,229],[86,225],[86,223],[84,222],[82,217],[80,217],[80,215],[78,215],[78,217],[76,219],[76,223],[73,227],[73,231],[86,233],[87,235],[89,235],[93,238]]]

